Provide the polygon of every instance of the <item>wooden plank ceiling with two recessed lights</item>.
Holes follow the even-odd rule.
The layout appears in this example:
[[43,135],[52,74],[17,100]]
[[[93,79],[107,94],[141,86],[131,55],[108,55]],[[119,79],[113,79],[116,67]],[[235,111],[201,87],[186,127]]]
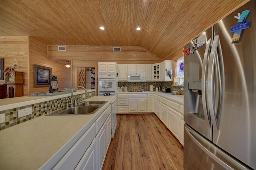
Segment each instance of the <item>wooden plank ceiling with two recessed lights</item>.
[[140,46],[164,60],[245,2],[0,0],[0,35],[31,36],[47,45]]

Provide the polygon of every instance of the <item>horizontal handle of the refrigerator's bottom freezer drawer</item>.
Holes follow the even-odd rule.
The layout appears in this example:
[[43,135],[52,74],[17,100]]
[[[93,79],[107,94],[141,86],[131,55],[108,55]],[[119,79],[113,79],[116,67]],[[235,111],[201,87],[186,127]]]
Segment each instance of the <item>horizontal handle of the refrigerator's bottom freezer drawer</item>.
[[[203,152],[205,152],[208,156],[210,156],[213,160],[215,160],[218,164],[220,164],[223,168],[227,170],[233,169],[248,169],[236,160],[231,157],[227,157],[226,153],[222,150],[215,147],[212,143],[208,142],[201,135],[194,132],[190,127],[186,124],[184,125],[185,133],[188,137],[200,148]],[[192,142],[191,141],[191,142]],[[224,158],[224,160],[221,160]],[[224,162],[225,161],[225,162]]]

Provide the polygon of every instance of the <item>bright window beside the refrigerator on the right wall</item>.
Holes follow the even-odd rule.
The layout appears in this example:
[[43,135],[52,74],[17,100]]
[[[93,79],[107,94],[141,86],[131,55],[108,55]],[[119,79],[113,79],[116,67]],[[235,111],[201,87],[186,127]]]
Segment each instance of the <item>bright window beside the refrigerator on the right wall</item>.
[[184,86],[184,57],[178,58],[174,61],[175,73],[174,73],[174,86]]

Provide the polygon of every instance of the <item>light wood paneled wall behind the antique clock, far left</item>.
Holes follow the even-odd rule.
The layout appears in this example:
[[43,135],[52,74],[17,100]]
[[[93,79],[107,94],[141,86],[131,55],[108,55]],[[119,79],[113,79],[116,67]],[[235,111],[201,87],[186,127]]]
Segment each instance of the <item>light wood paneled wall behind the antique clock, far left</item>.
[[17,61],[16,71],[23,72],[22,95],[29,95],[28,83],[28,36],[0,36],[0,58],[4,58],[4,69]]

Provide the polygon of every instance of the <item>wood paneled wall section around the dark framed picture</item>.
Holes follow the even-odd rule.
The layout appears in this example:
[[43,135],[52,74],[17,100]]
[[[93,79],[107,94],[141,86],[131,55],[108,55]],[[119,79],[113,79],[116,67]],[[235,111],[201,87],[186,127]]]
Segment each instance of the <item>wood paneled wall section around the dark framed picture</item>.
[[57,76],[59,90],[71,87],[71,68],[66,68],[63,63],[47,59],[47,45],[29,38],[29,68],[30,68],[30,92],[46,92],[49,87],[34,88],[34,64],[52,68],[52,75]]

